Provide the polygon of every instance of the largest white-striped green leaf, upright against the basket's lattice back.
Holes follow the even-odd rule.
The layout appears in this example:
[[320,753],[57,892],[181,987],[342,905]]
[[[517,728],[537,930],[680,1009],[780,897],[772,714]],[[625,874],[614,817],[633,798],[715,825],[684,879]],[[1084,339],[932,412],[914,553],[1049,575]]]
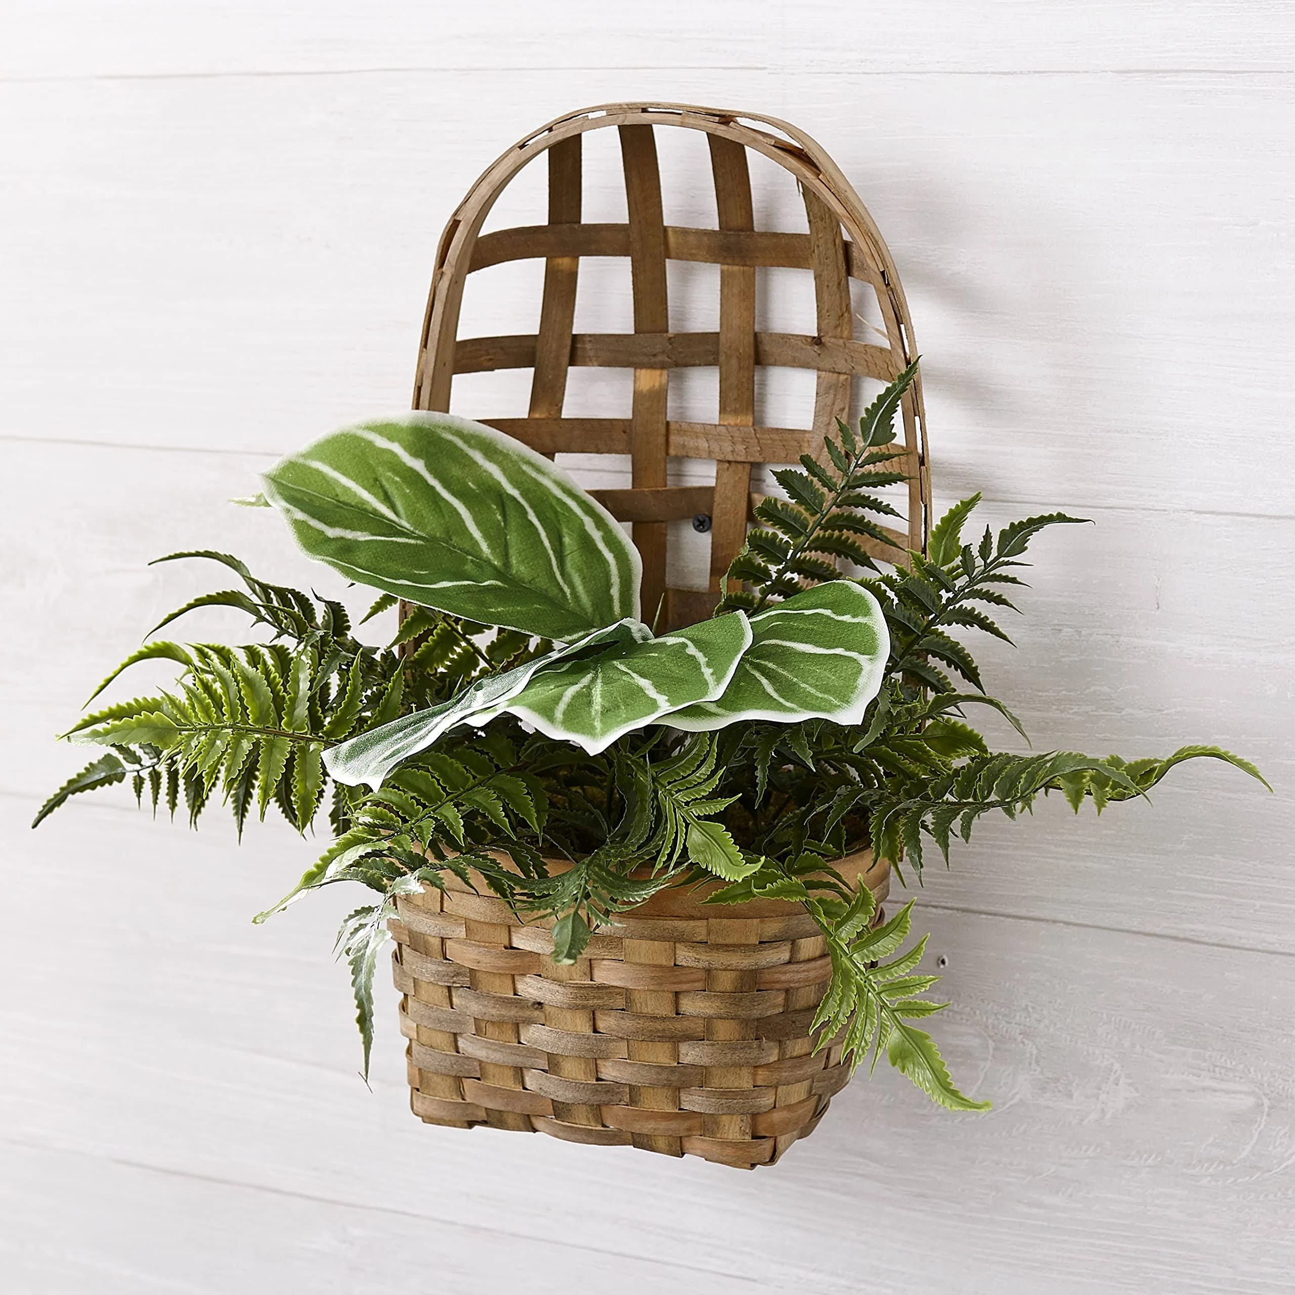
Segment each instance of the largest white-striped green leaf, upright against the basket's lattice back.
[[280,460],[264,484],[311,557],[411,602],[558,642],[638,615],[641,563],[619,523],[482,423],[359,423]]

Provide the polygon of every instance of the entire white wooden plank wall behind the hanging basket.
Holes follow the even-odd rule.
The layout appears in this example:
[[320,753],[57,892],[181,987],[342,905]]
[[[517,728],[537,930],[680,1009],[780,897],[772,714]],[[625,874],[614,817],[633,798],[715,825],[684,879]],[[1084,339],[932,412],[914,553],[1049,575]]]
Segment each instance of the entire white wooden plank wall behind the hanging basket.
[[[987,825],[919,901],[996,1110],[879,1074],[755,1175],[425,1128],[394,995],[368,1092],[348,896],[247,921],[311,855],[281,828],[26,830],[52,734],[210,587],[148,559],[319,584],[224,501],[407,403],[467,184],[623,98],[817,136],[904,278],[939,500],[1097,522],[984,654],[1036,742],[1213,739],[1277,787]],[[0,1290],[1295,1287],[1292,135],[1285,0],[5,0]]]

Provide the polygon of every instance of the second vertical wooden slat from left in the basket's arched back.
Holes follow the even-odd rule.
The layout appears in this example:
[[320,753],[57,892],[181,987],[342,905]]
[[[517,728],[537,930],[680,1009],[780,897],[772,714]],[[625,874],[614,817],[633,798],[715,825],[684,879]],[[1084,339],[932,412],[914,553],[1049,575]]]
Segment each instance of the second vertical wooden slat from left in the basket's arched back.
[[[620,153],[629,207],[629,272],[635,299],[635,332],[670,334],[666,295],[666,224],[662,219],[660,168],[650,126],[622,126]],[[631,480],[637,487],[666,484],[666,405],[670,366],[635,366],[629,426]],[[633,539],[642,558],[642,619],[649,624],[666,593],[666,523],[635,522]]]

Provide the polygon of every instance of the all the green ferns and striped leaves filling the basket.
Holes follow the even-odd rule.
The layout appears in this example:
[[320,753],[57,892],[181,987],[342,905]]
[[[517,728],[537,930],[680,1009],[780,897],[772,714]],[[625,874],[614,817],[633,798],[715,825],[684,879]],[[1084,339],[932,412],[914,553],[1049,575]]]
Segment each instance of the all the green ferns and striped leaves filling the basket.
[[[881,519],[896,514],[877,492],[905,479],[892,427],[914,368],[857,430],[839,423],[821,458],[776,474],[787,497],[756,509],[715,616],[662,635],[641,619],[622,527],[518,442],[447,414],[325,436],[272,467],[264,497],[312,558],[379,593],[369,616],[414,605],[396,637],[364,644],[339,603],[228,554],[159,559],[224,563],[243,588],[202,594],[153,633],[225,606],[268,641],[150,638],[95,697],[148,659],[177,663],[175,685],[82,719],[66,737],[106,751],[36,822],[126,780],[154,808],[183,802],[192,824],[219,796],[240,834],[272,804],[303,833],[326,818],[332,843],[271,912],[337,882],[376,892],[338,938],[365,1068],[398,895],[475,869],[518,914],[554,918],[554,957],[572,962],[618,912],[719,877],[708,903],[777,897],[812,914],[833,967],[822,1042],[842,1035],[853,1064],[884,1054],[940,1105],[984,1109],[916,1024],[945,1005],[925,997],[938,979],[918,970],[925,939],[905,949],[912,903],[874,929],[868,887],[829,861],[870,844],[919,877],[927,840],[948,860],[954,833],[969,839],[983,815],[1015,817],[1040,793],[1101,812],[1195,756],[1260,774],[1210,746],[1146,760],[988,749],[971,707],[1020,725],[953,635],[1006,640],[992,618],[1015,610],[1030,540],[1079,518],[1026,518],[965,544],[974,496],[926,554],[895,549]],[[895,562],[879,566],[878,546]],[[865,574],[842,578],[840,559]],[[545,855],[571,866],[550,875]]]

